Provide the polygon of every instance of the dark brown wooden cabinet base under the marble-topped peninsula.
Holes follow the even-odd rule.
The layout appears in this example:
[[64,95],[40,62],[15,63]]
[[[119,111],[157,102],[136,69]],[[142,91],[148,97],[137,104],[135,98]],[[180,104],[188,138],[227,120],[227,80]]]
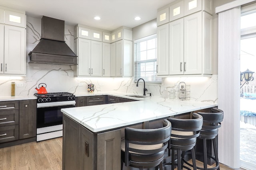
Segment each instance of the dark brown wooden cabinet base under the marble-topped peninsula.
[[63,115],[63,170],[120,170],[121,129],[93,133]]

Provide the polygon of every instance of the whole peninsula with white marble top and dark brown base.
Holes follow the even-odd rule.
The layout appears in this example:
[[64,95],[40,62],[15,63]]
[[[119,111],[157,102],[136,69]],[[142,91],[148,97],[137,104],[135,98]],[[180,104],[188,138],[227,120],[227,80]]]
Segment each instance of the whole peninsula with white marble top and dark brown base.
[[208,102],[148,97],[134,102],[61,109],[62,168],[120,170],[125,127],[154,128],[166,117],[215,106]]

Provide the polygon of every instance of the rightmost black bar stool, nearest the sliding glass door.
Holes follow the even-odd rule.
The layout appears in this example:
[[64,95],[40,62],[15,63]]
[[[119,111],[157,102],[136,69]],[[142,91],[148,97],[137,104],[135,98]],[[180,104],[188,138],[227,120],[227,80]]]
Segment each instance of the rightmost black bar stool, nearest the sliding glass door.
[[[218,128],[221,126],[220,122],[223,121],[224,113],[221,109],[211,108],[209,113],[198,112],[198,114],[202,115],[204,119],[204,123],[202,129],[200,131],[199,139],[203,140],[204,145],[204,168],[197,167],[200,170],[220,170],[219,160],[218,160],[218,149],[217,149],[217,138]],[[212,140],[213,149],[214,149],[214,157],[207,155],[207,147],[206,140]],[[216,166],[213,168],[207,168],[207,158],[210,158],[215,161]]]

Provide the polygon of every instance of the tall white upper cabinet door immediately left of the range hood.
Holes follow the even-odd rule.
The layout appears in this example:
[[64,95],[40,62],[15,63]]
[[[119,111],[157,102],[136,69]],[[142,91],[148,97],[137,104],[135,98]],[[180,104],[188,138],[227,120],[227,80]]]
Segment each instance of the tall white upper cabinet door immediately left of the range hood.
[[26,33],[22,27],[4,26],[4,73],[25,74]]

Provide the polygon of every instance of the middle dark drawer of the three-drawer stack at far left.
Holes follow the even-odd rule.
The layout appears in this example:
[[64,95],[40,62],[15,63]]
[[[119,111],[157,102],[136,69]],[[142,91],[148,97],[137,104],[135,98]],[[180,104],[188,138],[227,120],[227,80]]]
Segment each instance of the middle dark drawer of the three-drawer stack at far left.
[[19,124],[19,111],[0,111],[0,127],[18,125]]

